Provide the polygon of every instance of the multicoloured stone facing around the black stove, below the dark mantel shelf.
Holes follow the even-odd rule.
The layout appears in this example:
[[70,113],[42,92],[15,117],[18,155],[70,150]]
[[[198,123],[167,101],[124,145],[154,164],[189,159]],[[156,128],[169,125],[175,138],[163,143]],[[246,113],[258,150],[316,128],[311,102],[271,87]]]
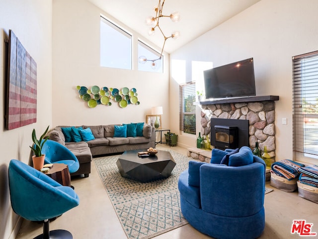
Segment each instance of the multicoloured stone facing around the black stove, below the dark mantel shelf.
[[[201,102],[202,104],[203,102]],[[253,149],[258,141],[263,151],[267,152],[275,161],[275,102],[260,101],[251,103],[225,103],[202,105],[201,135],[210,134],[210,119],[248,119],[249,147]]]

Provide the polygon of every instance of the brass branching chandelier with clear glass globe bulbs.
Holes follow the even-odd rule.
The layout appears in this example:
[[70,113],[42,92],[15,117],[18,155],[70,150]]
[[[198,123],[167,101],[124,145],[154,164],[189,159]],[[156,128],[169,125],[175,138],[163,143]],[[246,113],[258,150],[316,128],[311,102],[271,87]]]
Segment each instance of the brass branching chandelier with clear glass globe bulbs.
[[165,0],[162,0],[162,3],[161,3],[161,0],[159,0],[158,2],[158,6],[155,6],[154,7],[154,11],[156,12],[156,16],[149,16],[147,17],[146,19],[146,23],[147,25],[153,25],[149,31],[148,31],[148,34],[149,35],[154,35],[155,34],[155,30],[156,30],[156,27],[158,27],[158,29],[160,30],[162,36],[163,36],[163,45],[162,45],[162,49],[161,49],[161,53],[160,53],[160,56],[158,59],[154,59],[154,60],[149,60],[146,58],[146,56],[140,56],[139,57],[139,63],[142,63],[142,64],[145,64],[147,61],[151,61],[151,67],[153,69],[156,69],[156,61],[160,60],[161,57],[162,57],[162,53],[163,53],[163,48],[164,48],[164,44],[166,42],[167,39],[169,38],[173,38],[173,39],[177,39],[179,36],[180,36],[180,32],[178,31],[175,31],[173,32],[170,36],[165,36],[163,31],[161,30],[160,26],[159,26],[159,20],[161,17],[170,17],[170,19],[173,21],[173,22],[178,22],[180,20],[180,15],[179,15],[179,12],[175,11],[175,12],[172,12],[170,15],[163,15],[162,14],[162,8],[163,8],[163,4],[164,4],[164,1]]

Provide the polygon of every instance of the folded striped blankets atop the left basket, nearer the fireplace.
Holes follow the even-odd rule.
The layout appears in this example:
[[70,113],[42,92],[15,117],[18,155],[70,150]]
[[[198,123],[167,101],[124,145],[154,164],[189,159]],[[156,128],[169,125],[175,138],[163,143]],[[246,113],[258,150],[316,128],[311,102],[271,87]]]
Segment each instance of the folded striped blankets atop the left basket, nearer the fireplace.
[[305,167],[305,165],[289,159],[284,159],[272,164],[271,173],[286,178],[287,180],[292,180],[300,175],[299,169],[301,167]]

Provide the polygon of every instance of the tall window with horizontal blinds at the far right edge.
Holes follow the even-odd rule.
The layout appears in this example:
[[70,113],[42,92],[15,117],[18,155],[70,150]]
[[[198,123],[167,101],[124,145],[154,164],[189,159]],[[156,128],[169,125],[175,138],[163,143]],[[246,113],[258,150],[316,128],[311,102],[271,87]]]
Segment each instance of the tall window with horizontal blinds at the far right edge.
[[318,51],[293,57],[293,150],[318,158]]

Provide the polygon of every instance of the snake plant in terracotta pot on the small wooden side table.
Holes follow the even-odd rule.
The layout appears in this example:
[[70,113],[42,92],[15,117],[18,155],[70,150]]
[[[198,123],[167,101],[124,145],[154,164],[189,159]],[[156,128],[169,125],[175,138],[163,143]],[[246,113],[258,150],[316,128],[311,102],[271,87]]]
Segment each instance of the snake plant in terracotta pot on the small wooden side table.
[[32,131],[32,141],[34,145],[30,146],[31,150],[33,151],[34,155],[32,156],[33,167],[37,170],[43,168],[44,165],[44,158],[45,154],[42,154],[42,147],[45,144],[46,140],[48,140],[49,136],[45,136],[47,131],[49,130],[49,126],[46,128],[45,132],[41,135],[40,139],[37,139],[35,129],[33,128]]

